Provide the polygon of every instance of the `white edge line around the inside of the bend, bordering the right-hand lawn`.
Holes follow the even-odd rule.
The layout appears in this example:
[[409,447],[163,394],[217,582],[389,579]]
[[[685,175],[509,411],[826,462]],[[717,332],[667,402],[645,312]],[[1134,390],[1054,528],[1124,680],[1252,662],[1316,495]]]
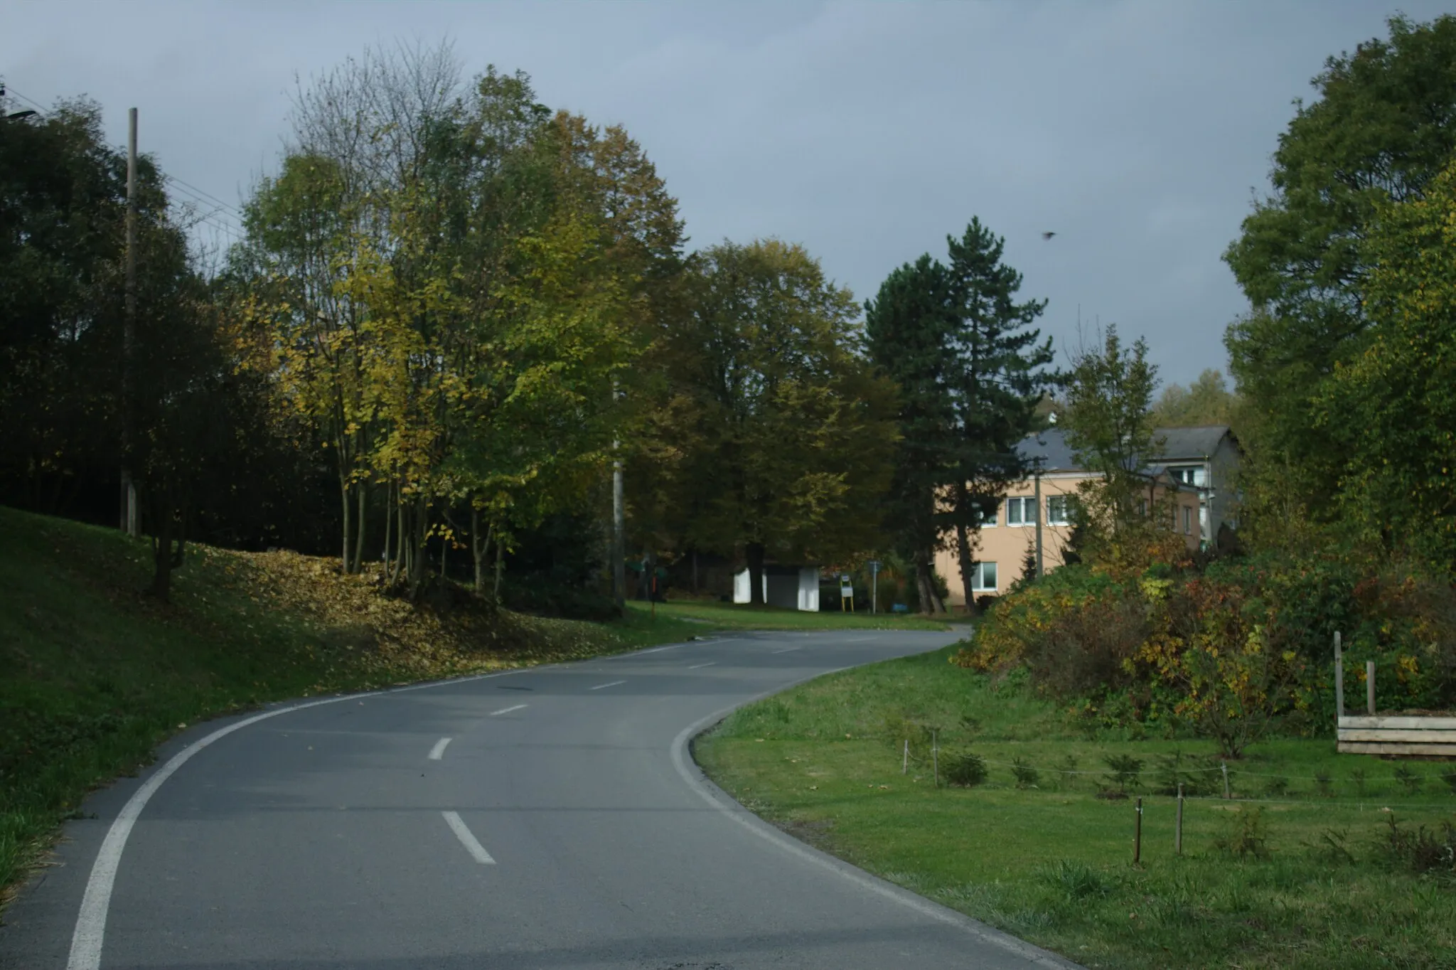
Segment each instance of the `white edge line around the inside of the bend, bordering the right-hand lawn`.
[[[686,728],[678,731],[676,738],[673,738],[673,747],[670,749],[670,753],[673,756],[673,768],[677,769],[678,776],[684,782],[687,782],[687,786],[692,788],[699,798],[702,798],[709,805],[712,805],[722,814],[728,816],[729,819],[741,824],[753,835],[759,836],[760,839],[764,839],[766,842],[778,846],[779,849],[783,849],[785,852],[789,852],[791,855],[804,859],[805,862],[817,865],[823,870],[828,870],[830,872],[834,872],[836,875],[840,875],[849,880],[850,883],[855,883],[860,888],[869,890],[871,893],[875,893],[877,896],[900,903],[901,906],[907,906],[920,913],[922,916],[927,916],[929,919],[935,919],[936,922],[948,923],[951,926],[962,929],[971,934],[973,937],[980,938],[984,942],[1008,950],[1016,954],[1018,957],[1022,957],[1024,960],[1035,963],[1041,967],[1047,967],[1048,970],[1079,970],[1079,964],[1072,963],[1070,960],[1064,960],[1063,957],[1059,957],[1054,953],[1042,950],[1041,947],[1035,947],[1026,942],[1025,939],[1016,939],[1010,934],[1003,934],[999,929],[993,929],[986,923],[971,919],[970,916],[964,916],[952,909],[932,903],[927,899],[922,899],[914,893],[910,893],[909,890],[900,888],[898,886],[894,886],[884,880],[878,880],[874,875],[865,872],[863,870],[859,870],[842,859],[836,859],[834,856],[820,852],[818,849],[811,849],[798,839],[792,839],[780,833],[778,829],[773,829],[766,821],[761,821],[757,816],[754,816],[747,808],[740,805],[737,801],[732,801],[732,797],[728,795],[728,792],[718,788],[718,785],[713,785],[713,782],[706,775],[703,775],[702,769],[699,769],[696,763],[692,768],[689,768],[687,746],[709,725],[724,719],[740,706],[747,706],[754,701],[761,701],[763,698],[773,696],[775,693],[782,693],[783,690],[788,690],[789,687],[798,683],[805,683],[817,677],[827,677],[828,674],[839,673],[840,670],[849,670],[849,667],[826,670],[792,683],[780,685],[773,690],[764,690],[759,696],[750,698],[743,703],[735,703],[731,708],[724,708],[722,711],[718,711],[716,714],[709,714],[706,718],[697,721],[696,724],[689,724]],[[715,795],[713,792],[719,794]]]

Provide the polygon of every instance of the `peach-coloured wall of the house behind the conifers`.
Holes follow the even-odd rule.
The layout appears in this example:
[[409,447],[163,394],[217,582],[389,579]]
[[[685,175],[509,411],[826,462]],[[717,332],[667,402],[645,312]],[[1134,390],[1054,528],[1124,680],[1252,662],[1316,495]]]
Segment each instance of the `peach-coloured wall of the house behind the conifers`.
[[[1054,526],[1047,521],[1047,500],[1053,495],[1073,495],[1077,491],[1080,482],[1092,478],[1085,473],[1050,473],[1041,478],[1041,568],[1045,572],[1051,572],[1063,564],[1061,553],[1066,549],[1067,540],[1072,536],[1070,526]],[[1165,486],[1159,485],[1155,489],[1155,497],[1162,500],[1165,497]],[[1035,549],[1037,542],[1037,526],[1034,521],[1028,521],[1025,526],[1009,526],[1006,524],[1006,500],[1009,498],[1032,498],[1035,495],[1034,482],[1021,482],[1019,485],[1010,488],[1000,501],[1000,508],[996,516],[994,526],[981,526],[978,530],[978,546],[973,549],[971,555],[977,562],[994,562],[996,564],[996,587],[976,590],[976,596],[999,596],[1005,593],[1012,583],[1021,578],[1022,561],[1026,558],[1028,546]],[[1178,491],[1172,495],[1176,505],[1176,532],[1184,536],[1190,551],[1198,549],[1200,529],[1198,529],[1198,494],[1194,491]],[[1184,530],[1184,510],[1188,510],[1188,530]],[[961,583],[961,558],[955,549],[955,533],[948,532],[943,536],[943,545],[946,548],[935,553],[935,568],[945,580],[949,587],[951,594],[946,597],[946,606],[965,607],[965,593],[964,584]]]

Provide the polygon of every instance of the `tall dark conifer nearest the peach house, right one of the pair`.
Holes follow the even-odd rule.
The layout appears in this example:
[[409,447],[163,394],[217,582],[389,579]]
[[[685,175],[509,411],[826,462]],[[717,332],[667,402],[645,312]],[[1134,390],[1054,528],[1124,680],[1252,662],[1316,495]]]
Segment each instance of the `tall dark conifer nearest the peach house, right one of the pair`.
[[[996,514],[1002,497],[1026,479],[1016,446],[1035,424],[1035,408],[1054,376],[1051,338],[1028,329],[1045,300],[1015,303],[1021,274],[1002,264],[1005,240],[973,218],[949,243],[949,310],[955,320],[949,374],[958,412],[951,518],[961,562],[967,610],[976,603],[973,561],[980,523]],[[1040,513],[1038,513],[1040,514]]]

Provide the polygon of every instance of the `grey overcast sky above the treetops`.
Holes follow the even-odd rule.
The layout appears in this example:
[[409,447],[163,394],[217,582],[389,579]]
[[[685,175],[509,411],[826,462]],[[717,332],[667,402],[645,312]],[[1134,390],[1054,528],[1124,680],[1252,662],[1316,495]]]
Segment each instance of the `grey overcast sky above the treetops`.
[[277,165],[296,73],[450,38],[469,74],[521,68],[550,106],[625,125],[692,248],[799,242],[863,300],[980,216],[1060,347],[1080,306],[1187,383],[1226,366],[1245,300],[1219,256],[1291,100],[1396,9],[1456,3],[4,0],[0,77],[96,99],[118,146],[137,106],[143,150],[236,205]]

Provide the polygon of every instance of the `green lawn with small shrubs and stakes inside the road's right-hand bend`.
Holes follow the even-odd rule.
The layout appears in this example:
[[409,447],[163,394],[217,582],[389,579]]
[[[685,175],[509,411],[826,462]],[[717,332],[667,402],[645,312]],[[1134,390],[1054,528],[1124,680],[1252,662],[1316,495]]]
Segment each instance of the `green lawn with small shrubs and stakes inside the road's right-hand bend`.
[[[1389,851],[1392,819],[1408,843],[1456,821],[1456,779],[1441,778],[1456,765],[1258,744],[1232,763],[1232,801],[1217,770],[1213,795],[1187,801],[1178,858],[1175,800],[1149,791],[1159,756],[1210,744],[1089,737],[951,652],[801,685],[738,711],[695,754],[788,832],[1089,967],[1456,966],[1452,861],[1417,874],[1409,849]],[[933,788],[919,741],[901,775],[904,736],[929,725],[942,759],[974,752],[989,779]],[[1140,867],[1133,801],[1098,797],[1118,754],[1144,763],[1128,788],[1144,804]],[[1038,769],[1034,788],[1016,786],[1015,759]]]

